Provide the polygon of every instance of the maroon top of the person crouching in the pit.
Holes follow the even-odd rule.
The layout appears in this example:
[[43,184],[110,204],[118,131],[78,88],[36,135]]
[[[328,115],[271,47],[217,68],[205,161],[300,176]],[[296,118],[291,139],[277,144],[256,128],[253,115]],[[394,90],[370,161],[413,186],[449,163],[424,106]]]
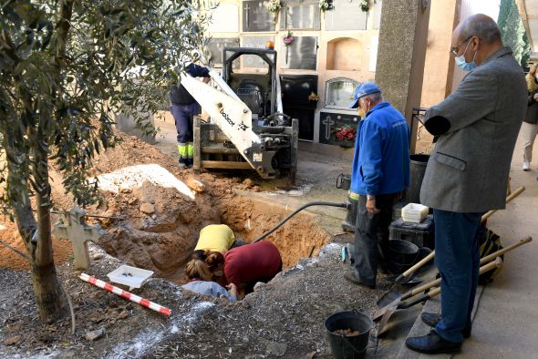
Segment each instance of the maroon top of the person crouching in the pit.
[[256,282],[268,282],[282,270],[282,258],[270,241],[258,241],[224,252],[226,282],[251,292]]

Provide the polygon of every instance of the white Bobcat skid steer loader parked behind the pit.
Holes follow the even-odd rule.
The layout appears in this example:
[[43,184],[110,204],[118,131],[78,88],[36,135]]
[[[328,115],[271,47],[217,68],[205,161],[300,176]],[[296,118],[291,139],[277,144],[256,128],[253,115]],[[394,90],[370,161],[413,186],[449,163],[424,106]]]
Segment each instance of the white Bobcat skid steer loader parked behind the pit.
[[[247,73],[241,56],[256,56],[265,71]],[[234,72],[235,71],[235,72]],[[188,74],[181,84],[211,117],[194,119],[194,169],[254,169],[263,179],[295,182],[298,120],[282,113],[276,51],[224,47],[222,77],[212,85]]]

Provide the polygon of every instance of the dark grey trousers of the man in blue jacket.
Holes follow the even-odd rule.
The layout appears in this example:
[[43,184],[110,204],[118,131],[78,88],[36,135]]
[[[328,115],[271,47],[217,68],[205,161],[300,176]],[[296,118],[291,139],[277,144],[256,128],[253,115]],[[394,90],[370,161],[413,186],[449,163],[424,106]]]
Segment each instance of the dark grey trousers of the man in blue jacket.
[[378,258],[383,259],[388,247],[388,226],[392,221],[395,194],[376,196],[378,214],[367,211],[367,197],[360,195],[355,228],[355,269],[361,282],[375,285]]

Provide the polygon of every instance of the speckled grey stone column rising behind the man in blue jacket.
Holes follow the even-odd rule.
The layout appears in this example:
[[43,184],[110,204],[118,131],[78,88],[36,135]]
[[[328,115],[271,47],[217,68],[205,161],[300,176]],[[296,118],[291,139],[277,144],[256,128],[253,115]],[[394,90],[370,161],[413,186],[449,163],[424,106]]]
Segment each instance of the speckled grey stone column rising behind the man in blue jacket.
[[[376,82],[409,125],[413,107],[420,106],[429,6],[429,0],[384,0],[381,10]],[[411,153],[416,140],[417,124],[413,124]]]

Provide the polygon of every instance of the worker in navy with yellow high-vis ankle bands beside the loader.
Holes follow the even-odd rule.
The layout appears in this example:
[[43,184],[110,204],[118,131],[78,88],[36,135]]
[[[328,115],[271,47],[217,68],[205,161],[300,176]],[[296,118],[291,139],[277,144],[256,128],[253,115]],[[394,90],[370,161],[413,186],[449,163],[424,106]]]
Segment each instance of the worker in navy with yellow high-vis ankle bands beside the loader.
[[[203,77],[203,82],[208,83],[211,79],[209,69],[191,64],[186,67],[186,72],[191,77]],[[189,91],[182,85],[172,87],[170,92],[171,114],[174,117],[176,130],[178,131],[178,152],[180,154],[180,168],[192,167],[194,147],[193,118],[199,115],[202,108],[191,96]]]

